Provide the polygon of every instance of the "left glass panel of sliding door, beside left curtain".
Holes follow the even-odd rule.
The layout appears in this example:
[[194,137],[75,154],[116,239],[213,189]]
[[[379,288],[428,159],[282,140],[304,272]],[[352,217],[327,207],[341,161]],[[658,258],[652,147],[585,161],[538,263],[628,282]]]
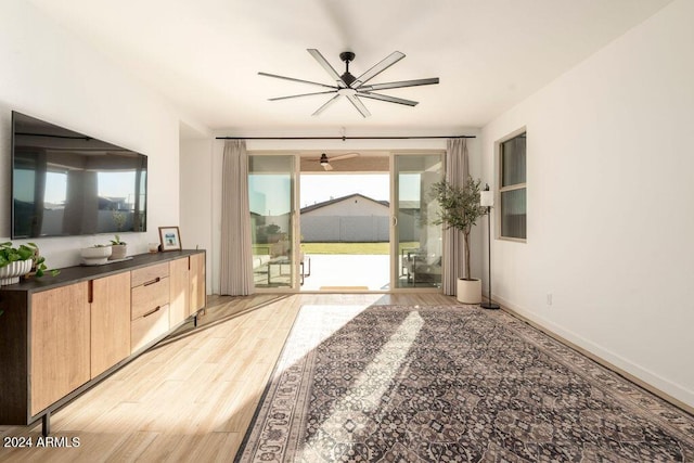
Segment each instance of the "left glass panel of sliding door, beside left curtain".
[[248,201],[257,288],[296,287],[294,155],[250,155]]

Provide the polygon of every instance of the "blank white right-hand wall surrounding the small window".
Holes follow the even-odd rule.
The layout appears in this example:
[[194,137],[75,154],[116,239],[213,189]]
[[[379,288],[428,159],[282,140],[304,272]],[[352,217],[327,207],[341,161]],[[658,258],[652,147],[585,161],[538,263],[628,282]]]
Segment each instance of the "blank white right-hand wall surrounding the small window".
[[494,297],[689,406],[693,17],[673,2],[483,130],[492,178],[527,127],[528,240],[494,241]]

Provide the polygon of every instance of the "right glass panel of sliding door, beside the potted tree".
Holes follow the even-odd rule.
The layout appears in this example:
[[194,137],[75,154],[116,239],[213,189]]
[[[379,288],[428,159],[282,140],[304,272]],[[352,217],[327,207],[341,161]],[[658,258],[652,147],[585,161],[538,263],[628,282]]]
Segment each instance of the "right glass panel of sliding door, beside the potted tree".
[[441,226],[432,185],[444,178],[441,154],[396,154],[393,162],[393,281],[396,288],[441,287]]

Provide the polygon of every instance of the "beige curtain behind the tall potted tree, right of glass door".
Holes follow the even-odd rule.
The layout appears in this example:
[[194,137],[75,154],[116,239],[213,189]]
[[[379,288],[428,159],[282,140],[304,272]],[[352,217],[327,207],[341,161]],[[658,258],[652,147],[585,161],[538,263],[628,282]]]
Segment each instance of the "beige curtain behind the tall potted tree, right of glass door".
[[[449,139],[446,147],[446,181],[460,187],[468,175],[467,140]],[[454,296],[458,279],[463,276],[463,233],[454,229],[444,230],[444,294]]]

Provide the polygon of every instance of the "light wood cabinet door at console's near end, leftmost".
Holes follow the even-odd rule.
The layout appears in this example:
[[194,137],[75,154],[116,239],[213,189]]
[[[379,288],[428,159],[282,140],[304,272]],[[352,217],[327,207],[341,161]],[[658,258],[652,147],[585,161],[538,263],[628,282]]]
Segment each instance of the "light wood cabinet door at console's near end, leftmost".
[[35,293],[30,312],[30,413],[90,380],[88,282]]

